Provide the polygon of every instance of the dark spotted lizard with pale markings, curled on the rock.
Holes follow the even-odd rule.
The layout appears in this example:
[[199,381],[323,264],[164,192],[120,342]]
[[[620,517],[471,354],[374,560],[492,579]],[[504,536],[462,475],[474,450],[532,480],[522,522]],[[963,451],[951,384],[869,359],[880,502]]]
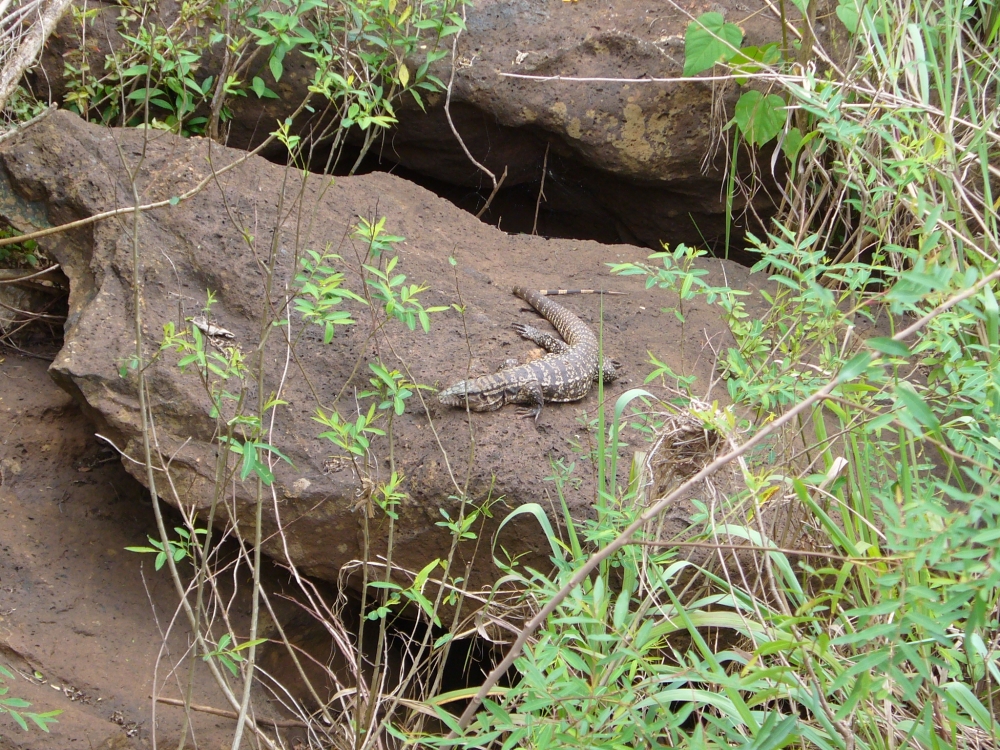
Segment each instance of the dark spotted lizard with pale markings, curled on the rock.
[[590,327],[565,307],[540,292],[514,287],[523,299],[549,321],[564,341],[523,324],[514,329],[534,341],[548,354],[541,359],[518,365],[508,361],[494,375],[460,380],[438,393],[447,406],[465,408],[468,399],[472,411],[494,411],[505,404],[526,404],[524,416],[538,421],[546,401],[579,401],[590,392],[598,377],[608,383],[618,376],[617,363],[605,358],[599,366],[597,337]]

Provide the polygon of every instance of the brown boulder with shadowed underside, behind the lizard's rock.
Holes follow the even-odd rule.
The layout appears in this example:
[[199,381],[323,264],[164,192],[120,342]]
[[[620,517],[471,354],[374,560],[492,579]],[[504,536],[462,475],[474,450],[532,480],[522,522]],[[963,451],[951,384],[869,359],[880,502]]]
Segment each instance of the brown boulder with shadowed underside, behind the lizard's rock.
[[[121,45],[116,30],[120,8],[114,3],[87,7],[97,13],[86,43],[96,50],[90,64],[99,71],[104,55]],[[719,241],[725,231],[728,160],[725,149],[719,151],[713,144],[723,137],[719,128],[731,117],[739,92],[710,81],[616,80],[680,76],[685,29],[705,10],[740,24],[745,44],[780,41],[774,8],[763,0],[718,0],[690,8],[631,0],[479,0],[469,7],[468,30],[458,45],[452,112],[471,153],[498,177],[507,171],[504,184],[513,192],[508,201],[497,202],[491,221],[530,231],[548,147],[542,234],[614,237],[657,249],[661,241]],[[166,23],[176,8],[164,4],[159,13]],[[64,58],[82,44],[83,36],[64,20],[36,86],[51,86],[57,99],[65,95]],[[218,72],[221,45],[213,50],[202,61],[199,80]],[[280,98],[250,94],[232,99],[228,144],[249,148],[260,143],[307,95],[313,72],[312,61],[293,52],[281,81],[270,84]],[[434,72],[447,81],[450,58],[439,62]],[[507,73],[607,80],[532,81],[504,77]],[[244,78],[254,75],[271,81],[264,56]],[[713,107],[713,98],[718,106]],[[397,105],[398,126],[376,143],[372,154],[385,165],[401,164],[427,178],[461,186],[463,190],[442,190],[476,209],[482,197],[470,196],[469,188],[488,189],[489,182],[454,138],[444,115],[444,97],[429,96],[427,104],[423,112],[405,95]],[[323,107],[317,111],[301,119],[300,132],[323,129]],[[713,153],[721,158],[707,158]],[[270,156],[284,159],[277,145]],[[744,154],[740,169],[750,163]],[[764,167],[761,173],[766,178],[769,171]],[[518,192],[518,186],[530,195]],[[735,200],[739,216],[742,198],[737,195]],[[766,191],[756,191],[755,207],[761,215],[773,210],[771,201]]]

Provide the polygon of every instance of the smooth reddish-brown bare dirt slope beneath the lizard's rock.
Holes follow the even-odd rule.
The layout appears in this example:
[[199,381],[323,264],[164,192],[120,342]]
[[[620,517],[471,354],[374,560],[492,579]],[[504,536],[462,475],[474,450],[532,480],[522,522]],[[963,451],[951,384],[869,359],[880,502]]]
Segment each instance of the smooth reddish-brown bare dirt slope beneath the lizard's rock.
[[[164,642],[176,593],[151,555],[124,549],[156,535],[149,494],[47,365],[0,354],[0,665],[16,674],[5,697],[62,714],[49,734],[0,714],[0,750],[154,747],[154,727],[176,747],[183,712],[150,695],[181,695],[171,667],[188,633],[178,620]],[[225,708],[205,670],[194,695]],[[196,714],[189,747],[228,748],[234,725]]]

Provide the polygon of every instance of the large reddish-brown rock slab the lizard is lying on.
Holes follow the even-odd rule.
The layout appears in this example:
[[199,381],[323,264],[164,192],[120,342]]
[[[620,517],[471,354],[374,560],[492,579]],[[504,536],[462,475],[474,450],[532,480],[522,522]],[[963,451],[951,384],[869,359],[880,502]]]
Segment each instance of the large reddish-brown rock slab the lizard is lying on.
[[[144,138],[148,141],[144,142]],[[0,218],[21,230],[84,219],[132,203],[125,160],[138,166],[140,200],[149,203],[182,194],[210,169],[222,169],[242,156],[206,139],[182,140],[162,132],[109,130],[57,112],[0,146]],[[164,323],[185,325],[199,314],[206,290],[216,294],[214,322],[235,334],[235,343],[255,361],[261,332],[267,263],[275,248],[271,302],[284,303],[284,289],[294,275],[293,258],[304,248],[332,246],[342,256],[346,286],[363,291],[356,253],[364,248],[349,237],[359,216],[386,217],[386,229],[406,237],[399,246],[397,272],[408,282],[426,282],[427,305],[464,305],[464,319],[454,310],[433,317],[431,332],[411,332],[392,321],[372,336],[369,313],[355,308],[358,325],[341,328],[329,345],[317,330],[303,329],[291,316],[290,329],[273,328],[263,350],[264,389],[283,382],[287,404],[275,410],[271,442],[293,462],[278,462],[276,500],[265,493],[265,549],[278,558],[290,556],[308,572],[336,580],[340,567],[364,555],[365,513],[357,509],[368,482],[389,474],[387,438],[371,444],[368,476],[357,476],[350,463],[332,458],[342,453],[317,437],[317,408],[337,408],[346,418],[356,415],[359,391],[368,385],[367,368],[376,352],[390,367],[403,367],[412,378],[440,386],[473,373],[492,371],[508,356],[525,357],[531,346],[511,329],[516,320],[536,322],[519,311],[514,283],[538,288],[604,287],[627,291],[607,297],[603,307],[606,351],[624,365],[625,377],[607,391],[608,409],[626,388],[641,384],[648,371],[647,351],[676,372],[698,376],[705,389],[712,376],[712,349],[725,346],[728,333],[714,310],[701,301],[685,303],[682,326],[664,292],[646,291],[634,279],[611,278],[606,264],[638,260],[646,251],[608,247],[593,242],[508,236],[459,211],[432,193],[388,174],[329,179],[286,171],[252,158],[225,171],[200,193],[174,206],[142,213],[138,220],[138,277],[147,358],[157,353]],[[71,281],[65,346],[51,372],[85,405],[102,434],[128,455],[141,459],[137,378],[122,377],[135,350],[135,318],[131,215],[121,215],[52,235],[40,242],[62,264]],[[245,233],[245,235],[244,235]],[[253,237],[248,247],[245,237]],[[457,266],[449,264],[449,256]],[[712,283],[744,286],[745,269],[706,261]],[[595,296],[562,298],[595,326],[600,300]],[[283,314],[283,313],[282,313]],[[542,326],[546,324],[541,323]],[[286,356],[285,331],[295,338],[294,356]],[[163,353],[148,369],[149,403],[162,455],[171,457],[177,497],[172,502],[203,513],[215,487],[218,424],[192,370],[181,372],[177,355]],[[353,377],[352,377],[353,376]],[[345,387],[346,385],[346,387]],[[334,403],[338,393],[344,397]],[[494,503],[492,517],[477,527],[479,540],[459,549],[459,574],[475,563],[472,582],[488,584],[495,571],[490,542],[499,521],[526,502],[553,507],[553,485],[544,478],[552,462],[575,462],[574,482],[567,485],[573,514],[590,512],[594,478],[586,452],[593,437],[586,426],[598,409],[591,393],[575,404],[549,405],[537,424],[519,419],[512,408],[473,414],[448,409],[426,396],[427,410],[416,398],[393,422],[392,449],[405,476],[407,497],[399,509],[394,561],[418,570],[447,554],[450,538],[436,525],[441,509],[453,518],[456,496],[467,487],[473,505]],[[383,425],[384,426],[384,425]],[[636,440],[636,434],[630,434]],[[583,453],[581,454],[581,452]],[[628,464],[628,451],[622,463]],[[140,481],[144,469],[126,460]],[[255,484],[238,479],[226,486],[235,493],[244,534],[250,533]],[[275,536],[280,518],[287,543]],[[677,519],[683,524],[683,514]],[[387,525],[376,513],[370,526],[369,556],[384,554]],[[525,563],[545,566],[548,540],[531,521],[509,525],[501,543],[524,553]]]

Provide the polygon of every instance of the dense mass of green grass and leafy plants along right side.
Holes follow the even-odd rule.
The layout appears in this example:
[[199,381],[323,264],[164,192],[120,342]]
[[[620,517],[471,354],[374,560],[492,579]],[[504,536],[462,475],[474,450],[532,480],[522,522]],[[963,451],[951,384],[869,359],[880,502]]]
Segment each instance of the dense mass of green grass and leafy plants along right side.
[[[686,74],[724,60],[736,84],[774,86],[744,92],[733,121],[748,143],[783,139],[791,169],[772,230],[751,238],[769,312],[711,286],[688,248],[613,266],[663,289],[681,322],[700,296],[729,323],[733,406],[687,408],[706,431],[753,434],[830,395],[744,456],[745,489],[694,498],[686,547],[634,536],[541,624],[468,727],[448,709],[473,690],[434,696],[445,730],[400,732],[412,744],[996,745],[998,16],[847,0],[837,17],[853,56],[822,72],[791,74],[773,45],[737,49],[713,14],[687,38]],[[651,356],[653,379],[672,375]],[[562,501],[565,476],[556,486]],[[647,505],[642,486],[602,493],[593,521],[564,513],[561,538],[541,507],[516,511],[553,539],[553,574],[507,568],[535,611]],[[792,534],[798,548],[766,531],[781,513],[809,531]],[[745,556],[699,564],[692,545]]]

